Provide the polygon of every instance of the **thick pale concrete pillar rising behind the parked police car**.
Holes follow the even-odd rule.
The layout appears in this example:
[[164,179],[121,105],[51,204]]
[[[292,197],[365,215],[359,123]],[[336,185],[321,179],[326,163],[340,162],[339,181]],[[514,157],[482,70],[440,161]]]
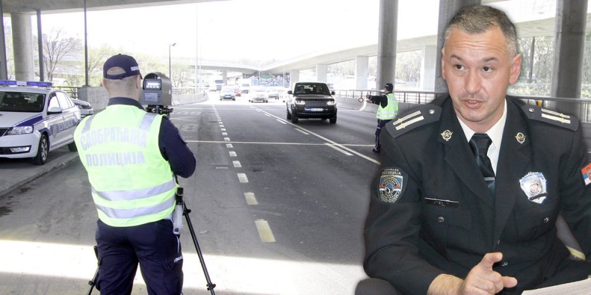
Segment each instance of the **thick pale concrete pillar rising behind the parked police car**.
[[31,15],[13,12],[12,48],[14,48],[14,72],[16,80],[35,80],[33,58],[33,34],[31,34]]

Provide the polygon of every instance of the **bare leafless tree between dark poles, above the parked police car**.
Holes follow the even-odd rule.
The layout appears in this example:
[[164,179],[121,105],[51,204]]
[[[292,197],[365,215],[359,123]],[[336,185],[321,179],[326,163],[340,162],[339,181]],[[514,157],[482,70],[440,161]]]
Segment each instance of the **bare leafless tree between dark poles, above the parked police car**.
[[[36,37],[35,41],[38,44]],[[80,51],[81,44],[82,42],[79,39],[67,37],[63,28],[54,29],[48,34],[43,34],[43,64],[49,81],[53,81],[56,67],[60,61],[66,55]],[[38,46],[35,48],[38,48]]]

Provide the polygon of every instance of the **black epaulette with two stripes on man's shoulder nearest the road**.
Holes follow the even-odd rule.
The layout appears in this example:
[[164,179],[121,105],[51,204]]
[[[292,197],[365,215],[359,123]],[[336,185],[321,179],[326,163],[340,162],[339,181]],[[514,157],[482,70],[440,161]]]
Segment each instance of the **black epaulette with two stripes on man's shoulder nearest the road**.
[[416,127],[439,121],[440,115],[441,107],[433,104],[424,104],[388,122],[386,129],[393,137],[398,137]]

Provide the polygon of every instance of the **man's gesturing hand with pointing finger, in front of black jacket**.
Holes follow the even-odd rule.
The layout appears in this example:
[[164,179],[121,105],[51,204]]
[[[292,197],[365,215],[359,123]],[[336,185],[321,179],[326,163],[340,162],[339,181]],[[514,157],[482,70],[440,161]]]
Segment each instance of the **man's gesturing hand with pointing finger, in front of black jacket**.
[[460,289],[460,294],[491,294],[494,295],[503,288],[515,287],[514,277],[503,277],[492,270],[492,265],[503,259],[500,252],[487,253],[480,263],[470,270]]

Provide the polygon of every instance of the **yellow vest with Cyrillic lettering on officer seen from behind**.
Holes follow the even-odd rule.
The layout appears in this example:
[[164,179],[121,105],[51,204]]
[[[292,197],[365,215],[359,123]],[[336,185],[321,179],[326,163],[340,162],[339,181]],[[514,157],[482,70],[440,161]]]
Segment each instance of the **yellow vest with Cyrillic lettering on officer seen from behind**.
[[86,117],[74,140],[99,219],[131,227],[167,218],[178,187],[158,148],[162,115],[113,104]]

